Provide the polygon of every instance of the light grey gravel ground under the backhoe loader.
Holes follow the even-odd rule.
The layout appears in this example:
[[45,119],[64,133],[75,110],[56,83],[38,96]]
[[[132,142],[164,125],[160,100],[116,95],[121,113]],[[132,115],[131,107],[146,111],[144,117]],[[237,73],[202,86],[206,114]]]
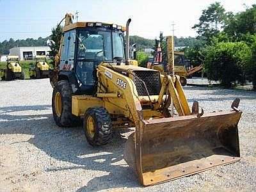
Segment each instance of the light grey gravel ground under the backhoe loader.
[[205,112],[229,109],[241,98],[242,159],[207,172],[143,188],[123,159],[125,139],[93,148],[81,127],[52,118],[49,79],[0,82],[0,191],[255,191],[256,93],[186,86],[189,104]]

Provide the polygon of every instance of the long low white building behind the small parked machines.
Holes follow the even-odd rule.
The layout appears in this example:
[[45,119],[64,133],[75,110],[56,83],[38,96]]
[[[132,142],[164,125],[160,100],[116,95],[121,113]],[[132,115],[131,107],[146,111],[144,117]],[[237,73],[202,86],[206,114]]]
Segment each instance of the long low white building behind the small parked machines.
[[19,56],[19,60],[31,60],[36,55],[49,56],[50,47],[13,47],[10,49],[10,55]]

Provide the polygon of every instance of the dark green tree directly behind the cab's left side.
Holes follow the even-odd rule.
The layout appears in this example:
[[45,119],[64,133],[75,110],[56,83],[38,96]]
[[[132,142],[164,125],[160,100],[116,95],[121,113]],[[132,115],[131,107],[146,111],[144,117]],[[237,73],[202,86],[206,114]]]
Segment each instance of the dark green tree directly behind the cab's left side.
[[54,43],[50,45],[50,48],[51,48],[51,51],[49,52],[50,56],[54,57],[59,52],[62,35],[63,35],[62,26],[57,26],[56,28],[52,28],[52,35],[50,36],[50,38]]

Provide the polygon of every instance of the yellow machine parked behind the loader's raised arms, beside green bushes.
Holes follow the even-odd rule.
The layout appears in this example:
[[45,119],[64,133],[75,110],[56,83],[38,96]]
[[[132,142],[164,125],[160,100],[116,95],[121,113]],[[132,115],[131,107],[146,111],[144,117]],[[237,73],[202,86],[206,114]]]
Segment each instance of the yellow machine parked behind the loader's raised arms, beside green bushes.
[[[195,72],[200,72],[200,70],[203,68],[203,65],[191,67],[189,61],[184,58],[184,52],[174,51],[174,49],[171,51],[173,52],[173,58],[170,58],[170,60],[174,60],[174,72],[180,77],[180,83],[182,86],[185,86],[187,84],[186,78],[191,77],[193,74],[195,74]],[[169,61],[163,61],[160,44],[157,47],[156,56],[154,58],[154,62],[148,61],[147,68],[159,70],[160,72],[168,72]]]

